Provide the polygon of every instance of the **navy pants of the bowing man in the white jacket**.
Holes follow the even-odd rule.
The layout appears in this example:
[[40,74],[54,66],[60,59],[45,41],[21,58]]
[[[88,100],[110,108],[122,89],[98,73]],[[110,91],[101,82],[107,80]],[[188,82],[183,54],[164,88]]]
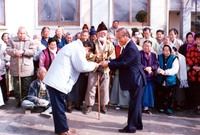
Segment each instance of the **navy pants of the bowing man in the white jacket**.
[[53,121],[55,127],[55,133],[63,133],[69,130],[67,124],[67,117],[65,115],[66,105],[65,98],[66,94],[47,86],[50,95],[50,101],[52,106]]

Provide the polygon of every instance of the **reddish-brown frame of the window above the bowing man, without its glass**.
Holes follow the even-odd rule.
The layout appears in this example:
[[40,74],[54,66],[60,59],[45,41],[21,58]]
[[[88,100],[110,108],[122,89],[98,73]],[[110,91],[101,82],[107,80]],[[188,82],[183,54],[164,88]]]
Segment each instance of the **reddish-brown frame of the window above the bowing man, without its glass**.
[[[40,21],[40,10],[41,10],[41,1],[42,0],[38,0],[38,26],[44,26],[44,25],[49,25],[49,26],[70,26],[70,25],[75,25],[75,26],[79,26],[80,25],[80,0],[77,0],[77,21],[76,22],[62,22],[61,20],[57,20],[57,22],[42,22]],[[58,18],[60,18],[60,0],[58,1]]]

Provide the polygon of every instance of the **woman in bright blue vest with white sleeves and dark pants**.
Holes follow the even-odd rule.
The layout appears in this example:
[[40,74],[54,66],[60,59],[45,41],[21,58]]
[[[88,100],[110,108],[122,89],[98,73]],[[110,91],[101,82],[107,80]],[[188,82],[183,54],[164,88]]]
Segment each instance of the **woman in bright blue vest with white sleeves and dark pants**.
[[172,115],[179,62],[177,57],[172,53],[172,48],[169,45],[163,46],[163,53],[158,55],[158,61],[159,67],[156,78],[158,85],[158,111]]

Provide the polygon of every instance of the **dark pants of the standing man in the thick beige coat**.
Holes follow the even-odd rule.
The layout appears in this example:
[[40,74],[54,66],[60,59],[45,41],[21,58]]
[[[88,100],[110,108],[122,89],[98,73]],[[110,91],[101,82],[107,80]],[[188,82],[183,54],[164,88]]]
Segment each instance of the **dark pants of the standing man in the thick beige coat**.
[[21,103],[21,101],[27,97],[29,86],[32,81],[33,81],[32,76],[21,77],[21,99],[20,99],[19,77],[18,76],[13,77],[14,94],[17,103]]

